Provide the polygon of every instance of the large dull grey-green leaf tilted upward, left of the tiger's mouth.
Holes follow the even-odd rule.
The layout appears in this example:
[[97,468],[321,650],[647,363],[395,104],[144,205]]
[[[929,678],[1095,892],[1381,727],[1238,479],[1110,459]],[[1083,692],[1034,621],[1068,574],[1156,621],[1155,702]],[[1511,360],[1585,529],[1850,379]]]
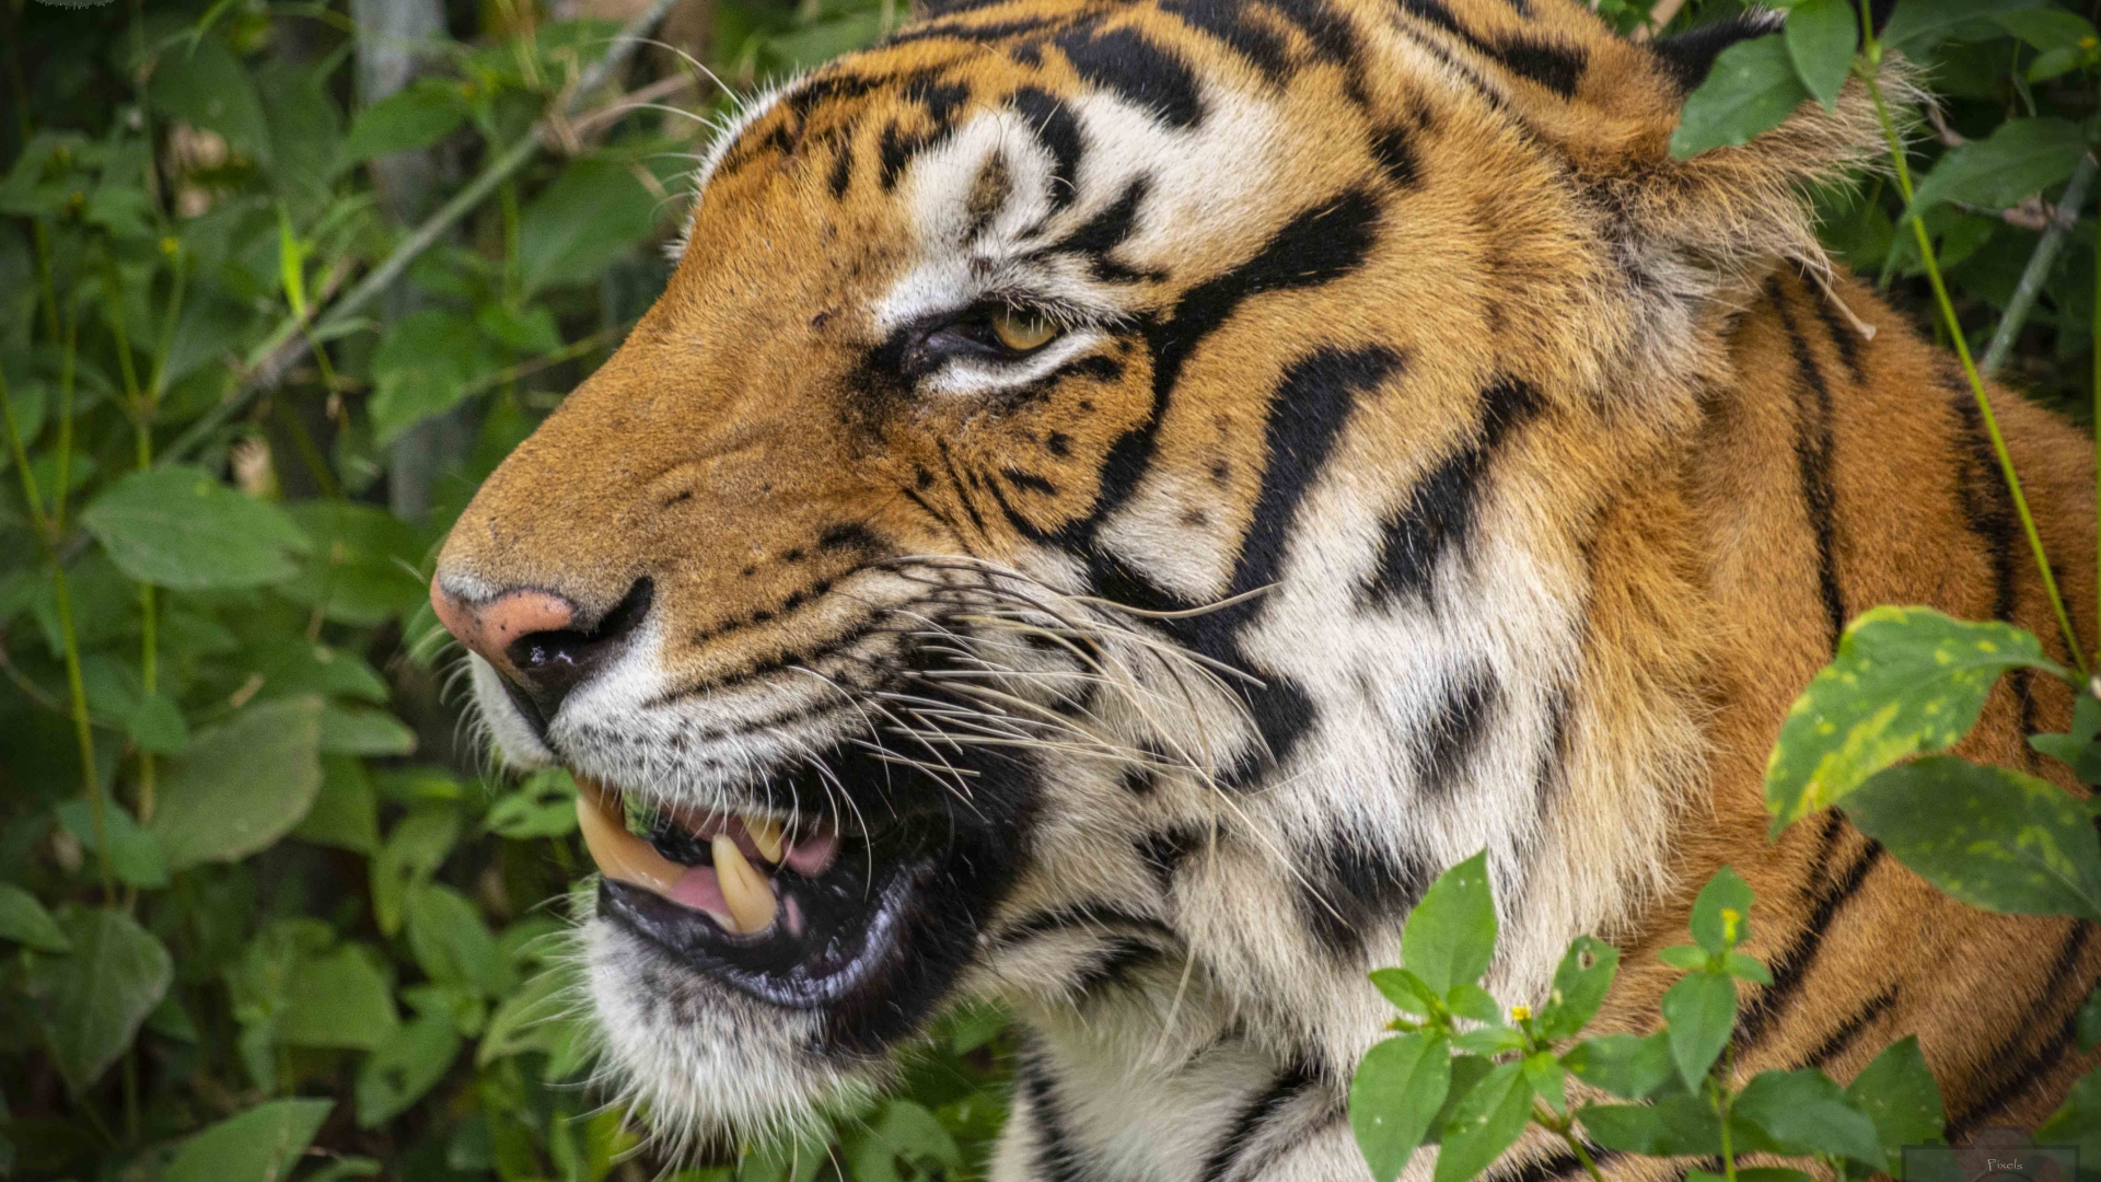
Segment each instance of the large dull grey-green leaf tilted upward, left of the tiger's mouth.
[[235,862],[290,833],[321,791],[319,745],[319,698],[258,702],[197,732],[168,761],[147,827],[168,869]]

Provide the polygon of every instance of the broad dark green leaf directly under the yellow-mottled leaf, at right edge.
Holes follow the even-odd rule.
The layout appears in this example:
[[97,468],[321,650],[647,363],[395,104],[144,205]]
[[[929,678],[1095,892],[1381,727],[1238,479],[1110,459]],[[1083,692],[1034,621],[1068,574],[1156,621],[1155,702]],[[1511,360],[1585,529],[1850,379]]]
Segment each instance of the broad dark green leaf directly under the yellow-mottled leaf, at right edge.
[[2048,780],[1937,755],[1868,780],[1845,810],[1891,856],[1971,906],[2101,919],[2093,812]]

